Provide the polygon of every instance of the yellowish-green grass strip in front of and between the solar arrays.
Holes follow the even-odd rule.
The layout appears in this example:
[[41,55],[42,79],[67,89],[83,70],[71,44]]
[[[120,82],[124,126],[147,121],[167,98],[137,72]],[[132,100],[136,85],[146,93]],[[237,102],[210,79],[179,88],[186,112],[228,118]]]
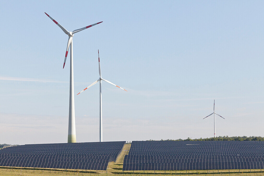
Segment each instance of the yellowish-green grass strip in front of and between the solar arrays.
[[181,171],[122,171],[123,161],[125,155],[128,154],[131,144],[125,144],[121,154],[118,156],[116,162],[111,162],[106,171],[95,170],[64,170],[64,169],[21,169],[21,168],[1,168],[0,176],[14,176],[14,175],[84,175],[84,176],[189,176],[189,175],[204,175],[204,176],[264,176],[264,170],[251,169],[251,170],[181,170]]

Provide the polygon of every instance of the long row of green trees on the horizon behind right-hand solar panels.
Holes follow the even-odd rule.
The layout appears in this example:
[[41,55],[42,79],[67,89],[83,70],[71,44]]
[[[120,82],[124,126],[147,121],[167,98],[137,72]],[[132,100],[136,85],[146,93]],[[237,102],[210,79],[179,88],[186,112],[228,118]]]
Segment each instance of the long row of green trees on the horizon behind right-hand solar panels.
[[228,136],[219,136],[219,137],[210,137],[210,138],[200,138],[200,139],[167,139],[167,140],[147,140],[147,141],[264,141],[264,137],[260,136],[233,136],[233,137],[228,137]]

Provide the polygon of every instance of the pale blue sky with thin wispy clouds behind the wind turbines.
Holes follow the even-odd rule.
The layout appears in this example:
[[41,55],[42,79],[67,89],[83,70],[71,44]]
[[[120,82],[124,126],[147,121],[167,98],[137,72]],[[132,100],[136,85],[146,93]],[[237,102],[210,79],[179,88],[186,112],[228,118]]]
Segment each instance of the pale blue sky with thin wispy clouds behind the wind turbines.
[[[263,1],[1,1],[0,143],[67,142],[74,92],[102,77],[103,141],[264,136]],[[77,142],[99,140],[99,84],[75,96]]]

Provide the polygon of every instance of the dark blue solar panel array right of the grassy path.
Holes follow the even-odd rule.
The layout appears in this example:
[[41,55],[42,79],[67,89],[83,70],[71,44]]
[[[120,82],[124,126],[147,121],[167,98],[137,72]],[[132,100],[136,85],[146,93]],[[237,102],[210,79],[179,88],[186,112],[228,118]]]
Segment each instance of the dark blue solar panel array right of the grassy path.
[[123,170],[264,169],[264,141],[132,141]]

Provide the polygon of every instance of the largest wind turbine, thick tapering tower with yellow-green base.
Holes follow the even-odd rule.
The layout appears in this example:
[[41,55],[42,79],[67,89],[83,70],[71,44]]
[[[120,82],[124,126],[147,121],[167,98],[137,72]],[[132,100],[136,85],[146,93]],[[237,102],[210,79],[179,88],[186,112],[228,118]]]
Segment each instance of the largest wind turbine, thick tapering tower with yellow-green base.
[[65,54],[65,59],[64,59],[64,64],[63,68],[65,66],[65,62],[67,59],[68,55],[68,50],[70,47],[70,103],[69,103],[69,127],[68,127],[68,143],[71,142],[76,142],[76,131],[75,131],[75,112],[74,112],[74,86],[73,86],[73,46],[72,46],[72,38],[75,33],[78,33],[84,29],[87,29],[89,27],[92,27],[94,25],[97,25],[101,22],[83,27],[81,29],[76,29],[72,32],[67,31],[62,25],[60,25],[57,21],[55,21],[53,18],[51,18],[46,12],[45,14],[53,21],[55,22],[56,25],[60,27],[60,29],[63,30],[65,34],[69,36],[68,39],[68,44],[67,44],[67,49],[66,49],[66,54]]

